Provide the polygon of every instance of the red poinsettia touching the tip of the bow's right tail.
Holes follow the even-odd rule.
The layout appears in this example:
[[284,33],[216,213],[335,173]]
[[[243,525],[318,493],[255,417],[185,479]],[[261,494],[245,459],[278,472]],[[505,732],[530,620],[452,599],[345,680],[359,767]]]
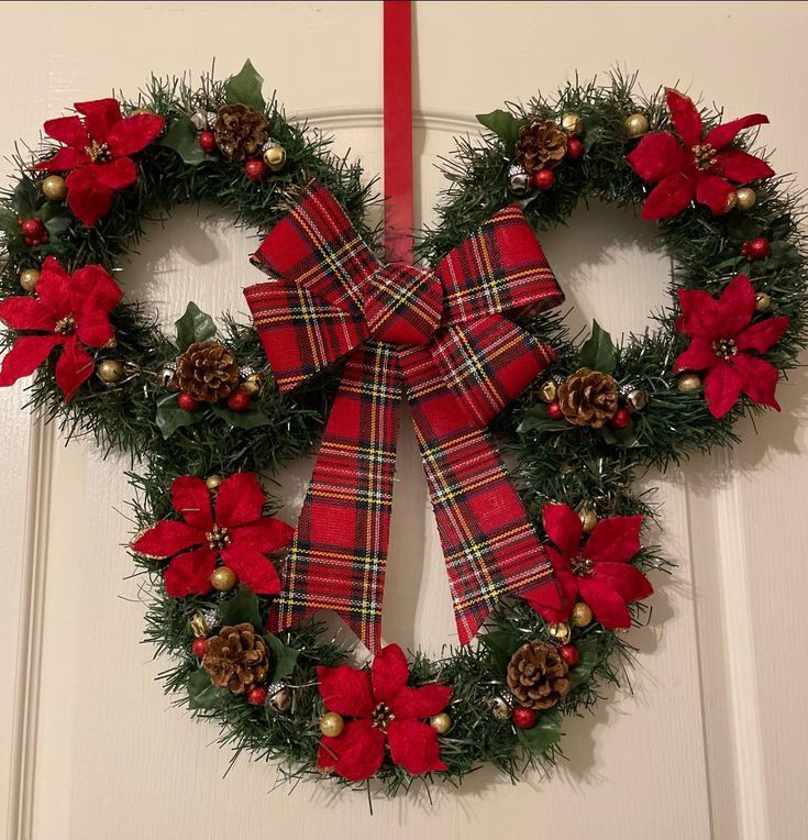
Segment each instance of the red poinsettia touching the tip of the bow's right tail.
[[[609,628],[631,627],[628,605],[653,593],[645,575],[629,562],[640,551],[642,517],[601,519],[582,545],[580,517],[568,505],[545,505],[544,530],[557,546],[547,545],[562,593],[561,609],[531,604],[547,621],[566,621],[578,596],[595,618]],[[527,599],[530,604],[530,598]]]

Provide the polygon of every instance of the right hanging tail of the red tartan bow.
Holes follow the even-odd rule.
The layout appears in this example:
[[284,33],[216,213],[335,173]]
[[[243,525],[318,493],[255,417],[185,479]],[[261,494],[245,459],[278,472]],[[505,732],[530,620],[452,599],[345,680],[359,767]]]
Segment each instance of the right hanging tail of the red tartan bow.
[[399,354],[446,560],[457,633],[467,644],[499,598],[560,606],[550,560],[488,432],[469,421],[429,350]]

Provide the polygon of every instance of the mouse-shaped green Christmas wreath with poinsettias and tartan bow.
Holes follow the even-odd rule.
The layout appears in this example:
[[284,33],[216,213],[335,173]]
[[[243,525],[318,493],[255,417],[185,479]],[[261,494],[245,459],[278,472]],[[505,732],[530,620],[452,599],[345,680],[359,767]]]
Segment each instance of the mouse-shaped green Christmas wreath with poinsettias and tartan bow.
[[[803,210],[752,151],[767,119],[619,76],[483,114],[412,267],[375,256],[358,165],[262,81],[250,63],[153,79],[45,122],[0,201],[0,384],[34,374],[35,410],[132,456],[146,634],[173,657],[166,690],[236,754],[389,794],[553,763],[666,566],[634,479],[737,441],[805,346]],[[656,328],[618,344],[597,323],[571,340],[534,236],[589,198],[641,208],[673,261]],[[265,234],[254,323],[191,302],[165,334],[114,280],[144,221],[182,202]],[[439,660],[378,634],[405,393],[462,642]],[[259,476],[321,436],[292,529]],[[322,608],[369,665],[323,638]]]

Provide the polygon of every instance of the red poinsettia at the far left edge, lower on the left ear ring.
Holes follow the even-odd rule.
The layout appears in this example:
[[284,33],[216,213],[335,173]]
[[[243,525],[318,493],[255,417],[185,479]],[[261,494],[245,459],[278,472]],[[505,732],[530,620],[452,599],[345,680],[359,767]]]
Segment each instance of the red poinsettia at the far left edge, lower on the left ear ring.
[[0,386],[29,376],[60,346],[56,383],[69,402],[95,367],[85,347],[102,347],[114,335],[109,313],[120,299],[121,289],[100,265],[87,265],[70,275],[54,257],[47,257],[35,298],[0,301],[0,321],[12,330],[32,333],[20,335],[3,358]]

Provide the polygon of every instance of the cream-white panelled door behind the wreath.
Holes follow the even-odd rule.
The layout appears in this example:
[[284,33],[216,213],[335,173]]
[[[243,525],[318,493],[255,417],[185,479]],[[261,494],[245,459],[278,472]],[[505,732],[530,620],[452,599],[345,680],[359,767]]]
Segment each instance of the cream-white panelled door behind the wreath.
[[[381,5],[377,2],[2,3],[0,147],[35,139],[76,100],[134,92],[151,71],[221,75],[250,56],[289,113],[333,132],[336,148],[381,165]],[[418,222],[429,222],[452,135],[474,113],[553,90],[619,63],[646,90],[678,84],[726,106],[766,111],[778,172],[808,181],[804,3],[421,2],[416,8]],[[168,323],[193,299],[244,313],[251,242],[226,219],[177,213],[152,230],[125,286]],[[664,259],[631,214],[580,210],[544,239],[583,324],[641,328],[662,301]],[[375,803],[329,785],[268,793],[270,766],[212,745],[215,730],[168,707],[159,662],[140,644],[142,608],[121,543],[130,491],[122,464],[0,398],[4,643],[0,792],[9,837],[496,838],[626,840],[805,836],[800,550],[808,480],[808,377],[784,385],[783,413],[733,453],[662,480],[664,545],[679,563],[654,581],[653,621],[632,631],[639,670],[597,715],[565,727],[550,780],[519,786],[489,771],[461,791]],[[436,653],[452,633],[449,594],[411,432],[402,432],[385,637]],[[299,505],[311,462],[284,477]],[[654,483],[656,479],[652,478]],[[291,518],[291,513],[289,513]],[[405,550],[405,537],[418,537]],[[421,538],[423,534],[423,538]],[[422,548],[421,548],[422,546]],[[416,788],[417,791],[419,788]],[[290,794],[290,795],[288,795]]]

